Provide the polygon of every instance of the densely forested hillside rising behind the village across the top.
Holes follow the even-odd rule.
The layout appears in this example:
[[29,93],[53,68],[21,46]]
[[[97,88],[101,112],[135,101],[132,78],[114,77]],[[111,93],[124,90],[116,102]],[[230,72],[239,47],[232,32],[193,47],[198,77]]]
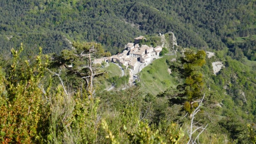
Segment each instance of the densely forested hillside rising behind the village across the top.
[[2,51],[23,42],[32,51],[58,53],[70,48],[68,39],[100,42],[116,53],[136,36],[173,31],[181,46],[228,47],[236,59],[255,59],[255,1],[4,0],[0,6]]

